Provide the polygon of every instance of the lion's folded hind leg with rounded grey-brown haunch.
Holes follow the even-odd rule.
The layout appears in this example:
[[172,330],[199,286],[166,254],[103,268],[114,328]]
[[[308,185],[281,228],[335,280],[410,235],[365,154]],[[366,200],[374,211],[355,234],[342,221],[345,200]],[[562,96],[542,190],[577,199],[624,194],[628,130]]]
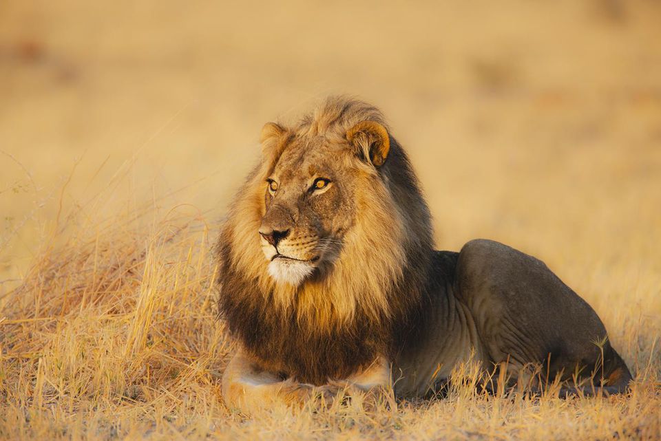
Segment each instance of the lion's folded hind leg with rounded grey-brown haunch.
[[[629,369],[611,347],[590,305],[540,260],[498,242],[468,242],[457,262],[455,296],[468,306],[492,363],[537,363],[546,378],[586,380],[603,391],[625,391]],[[569,390],[569,389],[567,389]],[[586,389],[587,391],[587,389]]]

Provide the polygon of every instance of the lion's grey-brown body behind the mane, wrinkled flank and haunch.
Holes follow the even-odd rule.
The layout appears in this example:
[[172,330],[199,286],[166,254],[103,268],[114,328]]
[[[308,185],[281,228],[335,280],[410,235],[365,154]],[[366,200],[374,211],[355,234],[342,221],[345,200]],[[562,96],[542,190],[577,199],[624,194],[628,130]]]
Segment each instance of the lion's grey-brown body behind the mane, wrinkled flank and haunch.
[[529,389],[541,387],[540,378],[571,382],[577,369],[577,380],[611,393],[631,379],[596,312],[542,261],[478,239],[458,253],[436,252],[432,266],[423,343],[411,342],[394,361],[398,396],[426,396],[470,360],[486,369],[506,363],[507,383]]

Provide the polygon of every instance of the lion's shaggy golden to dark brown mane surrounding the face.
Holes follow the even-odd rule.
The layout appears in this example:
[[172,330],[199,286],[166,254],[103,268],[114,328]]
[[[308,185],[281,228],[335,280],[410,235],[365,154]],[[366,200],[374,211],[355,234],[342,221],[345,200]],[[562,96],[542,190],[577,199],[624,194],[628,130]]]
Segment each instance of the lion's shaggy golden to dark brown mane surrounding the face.
[[[237,193],[218,241],[220,314],[230,330],[264,362],[314,383],[326,380],[324,376],[341,376],[348,365],[355,365],[352,350],[358,363],[374,352],[391,352],[396,334],[405,332],[411,315],[419,314],[427,280],[432,250],[429,211],[406,154],[392,136],[388,160],[379,169],[360,155],[353,159],[372,184],[355,192],[354,226],[328,275],[292,287],[276,284],[267,271],[258,235],[265,212],[265,178],[291,140],[322,136],[348,144],[347,132],[364,121],[387,128],[375,107],[331,97],[293,128],[279,136],[263,136],[267,139],[262,162]],[[327,342],[330,334],[344,341],[343,347],[328,350],[328,357],[338,359],[329,362],[328,369],[316,372],[322,363],[313,363],[305,354],[299,356],[302,365],[291,362],[295,352],[310,352],[306,346],[317,339],[319,343],[322,336]],[[353,344],[346,344],[347,339]]]

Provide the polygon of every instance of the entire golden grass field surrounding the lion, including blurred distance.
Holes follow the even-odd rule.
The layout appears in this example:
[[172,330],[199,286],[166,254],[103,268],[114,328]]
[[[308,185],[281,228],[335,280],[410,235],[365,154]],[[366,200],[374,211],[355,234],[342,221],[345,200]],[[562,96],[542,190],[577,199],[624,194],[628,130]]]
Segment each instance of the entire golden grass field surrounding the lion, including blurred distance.
[[[0,438],[660,439],[659,23],[654,0],[0,3]],[[503,241],[584,297],[631,392],[225,408],[218,224],[262,124],[329,93],[390,118],[437,248]]]

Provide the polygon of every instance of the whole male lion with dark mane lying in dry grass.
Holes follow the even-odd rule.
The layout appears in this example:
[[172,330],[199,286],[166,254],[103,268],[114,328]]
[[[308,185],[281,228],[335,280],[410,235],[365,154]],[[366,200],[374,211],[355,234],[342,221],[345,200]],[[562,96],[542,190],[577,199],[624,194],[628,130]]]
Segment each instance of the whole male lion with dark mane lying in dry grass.
[[267,123],[261,141],[218,241],[220,315],[240,343],[222,379],[229,407],[342,386],[426,396],[469,358],[510,386],[627,389],[599,317],[542,261],[484,239],[432,249],[429,209],[378,109],[328,98],[294,127]]

